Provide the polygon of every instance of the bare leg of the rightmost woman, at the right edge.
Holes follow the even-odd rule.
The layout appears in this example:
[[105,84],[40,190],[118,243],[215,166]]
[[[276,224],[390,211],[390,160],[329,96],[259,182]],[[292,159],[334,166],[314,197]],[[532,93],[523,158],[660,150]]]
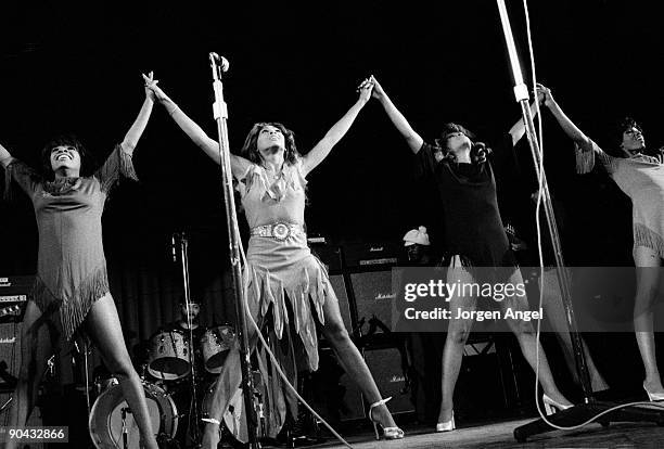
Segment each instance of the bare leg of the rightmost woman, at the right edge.
[[637,246],[634,249],[634,261],[637,266],[637,294],[634,305],[634,328],[636,330],[639,352],[646,369],[643,387],[650,393],[664,394],[664,387],[657,370],[653,333],[652,305],[660,281],[660,256],[651,248]]

